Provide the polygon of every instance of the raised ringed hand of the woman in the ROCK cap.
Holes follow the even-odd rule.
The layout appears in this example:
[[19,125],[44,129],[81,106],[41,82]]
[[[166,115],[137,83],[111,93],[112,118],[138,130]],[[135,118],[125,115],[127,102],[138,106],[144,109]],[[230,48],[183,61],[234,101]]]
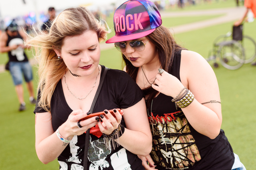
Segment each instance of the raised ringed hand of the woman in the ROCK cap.
[[156,75],[155,83],[157,86],[152,84],[153,89],[173,98],[175,98],[184,88],[183,84],[178,78],[166,71],[164,71],[162,74]]

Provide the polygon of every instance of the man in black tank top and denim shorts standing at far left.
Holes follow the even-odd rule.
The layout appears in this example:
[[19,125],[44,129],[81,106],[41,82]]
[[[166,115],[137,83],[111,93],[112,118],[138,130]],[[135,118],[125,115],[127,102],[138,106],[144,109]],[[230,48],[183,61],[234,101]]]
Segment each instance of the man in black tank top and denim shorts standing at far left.
[[34,88],[33,88],[33,75],[32,69],[28,62],[27,55],[24,52],[23,39],[25,34],[22,30],[18,29],[15,21],[13,20],[6,28],[5,32],[1,34],[0,38],[0,52],[7,52],[9,57],[9,70],[12,75],[13,83],[15,85],[16,94],[20,103],[19,111],[26,109],[23,97],[22,87],[22,74],[27,82],[28,92],[30,95],[30,102],[35,104]]

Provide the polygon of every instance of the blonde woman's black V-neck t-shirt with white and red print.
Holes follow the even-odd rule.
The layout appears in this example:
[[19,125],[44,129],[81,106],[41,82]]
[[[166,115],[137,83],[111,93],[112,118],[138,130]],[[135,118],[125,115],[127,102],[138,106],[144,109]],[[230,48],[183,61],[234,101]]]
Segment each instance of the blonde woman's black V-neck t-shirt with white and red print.
[[[102,66],[101,76],[104,68],[105,67]],[[39,97],[40,94],[38,95],[38,98]],[[104,109],[126,109],[138,103],[142,98],[142,90],[126,72],[108,69],[93,113],[102,112]],[[74,100],[76,100],[76,98],[74,98]],[[36,112],[41,113],[46,111],[37,105],[34,110],[34,113]],[[72,109],[70,109],[66,103],[60,80],[51,98],[51,116],[54,132],[68,119],[71,112]],[[123,118],[121,124],[125,126]],[[83,169],[85,135],[84,133],[83,135],[74,136],[60,154],[58,157],[60,170]],[[137,155],[129,152],[121,145],[114,150],[113,148],[107,149],[98,125],[90,129],[87,169],[140,170],[144,169],[141,163]]]

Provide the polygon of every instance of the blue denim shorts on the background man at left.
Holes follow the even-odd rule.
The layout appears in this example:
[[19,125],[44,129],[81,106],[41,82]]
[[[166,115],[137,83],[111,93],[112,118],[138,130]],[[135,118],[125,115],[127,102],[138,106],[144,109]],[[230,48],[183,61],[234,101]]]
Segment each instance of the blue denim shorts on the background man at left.
[[22,74],[26,82],[33,79],[32,69],[28,61],[10,61],[9,68],[15,86],[22,84]]

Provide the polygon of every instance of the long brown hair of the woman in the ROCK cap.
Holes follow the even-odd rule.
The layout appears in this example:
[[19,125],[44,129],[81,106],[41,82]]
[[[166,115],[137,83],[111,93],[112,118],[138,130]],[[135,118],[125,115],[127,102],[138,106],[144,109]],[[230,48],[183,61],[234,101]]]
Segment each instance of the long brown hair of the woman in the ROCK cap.
[[[155,45],[161,67],[167,72],[171,71],[174,53],[180,50],[187,50],[175,42],[171,32],[163,25],[157,27],[151,34],[147,35],[146,37]],[[139,68],[134,67],[131,62],[125,58],[124,54],[122,54],[122,57],[124,61],[123,67],[126,67],[126,72],[134,81],[136,81]],[[147,101],[152,101],[158,93],[152,88],[152,86],[143,89],[143,92],[145,95],[149,95]],[[147,102],[147,107],[149,106],[150,102]]]

